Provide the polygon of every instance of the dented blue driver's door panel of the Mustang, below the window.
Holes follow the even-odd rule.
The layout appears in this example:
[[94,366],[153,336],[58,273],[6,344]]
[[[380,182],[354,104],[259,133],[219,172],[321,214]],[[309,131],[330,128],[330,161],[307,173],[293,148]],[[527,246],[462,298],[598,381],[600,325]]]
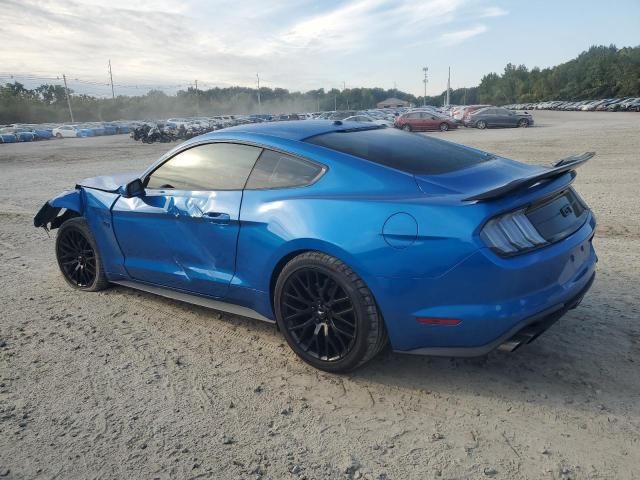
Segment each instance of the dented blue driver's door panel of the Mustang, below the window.
[[120,197],[113,226],[129,275],[224,297],[235,271],[242,190],[147,189]]

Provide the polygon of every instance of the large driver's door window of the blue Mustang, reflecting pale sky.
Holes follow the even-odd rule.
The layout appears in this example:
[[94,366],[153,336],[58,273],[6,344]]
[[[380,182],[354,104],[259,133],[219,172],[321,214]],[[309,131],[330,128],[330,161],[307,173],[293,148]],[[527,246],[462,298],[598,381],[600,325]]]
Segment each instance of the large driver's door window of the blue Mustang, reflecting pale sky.
[[184,150],[147,178],[147,188],[242,190],[261,148],[210,143]]

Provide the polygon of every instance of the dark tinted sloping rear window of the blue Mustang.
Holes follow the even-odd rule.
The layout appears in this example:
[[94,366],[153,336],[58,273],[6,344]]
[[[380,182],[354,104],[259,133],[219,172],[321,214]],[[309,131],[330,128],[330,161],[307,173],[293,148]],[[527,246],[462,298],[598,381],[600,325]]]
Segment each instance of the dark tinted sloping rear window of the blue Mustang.
[[393,128],[325,133],[306,142],[416,175],[454,172],[494,158],[488,153]]

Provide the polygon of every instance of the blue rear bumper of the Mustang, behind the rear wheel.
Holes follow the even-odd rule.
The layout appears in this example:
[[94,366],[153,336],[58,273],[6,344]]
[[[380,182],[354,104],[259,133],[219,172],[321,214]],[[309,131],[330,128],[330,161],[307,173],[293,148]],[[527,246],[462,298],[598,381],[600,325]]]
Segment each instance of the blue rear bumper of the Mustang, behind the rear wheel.
[[[595,222],[556,244],[512,258],[481,248],[437,277],[367,279],[392,348],[429,355],[483,355],[528,326],[537,336],[579,303],[593,282]],[[456,325],[418,318],[456,319]],[[522,342],[521,342],[522,343]]]

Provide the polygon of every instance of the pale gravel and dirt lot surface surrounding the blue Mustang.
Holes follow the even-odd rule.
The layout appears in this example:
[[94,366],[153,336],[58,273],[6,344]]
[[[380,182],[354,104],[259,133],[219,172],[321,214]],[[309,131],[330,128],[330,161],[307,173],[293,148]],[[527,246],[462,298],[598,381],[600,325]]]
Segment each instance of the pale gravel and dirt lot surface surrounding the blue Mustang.
[[640,478],[640,114],[534,116],[434,135],[542,164],[598,152],[576,181],[599,220],[582,305],[512,354],[387,352],[344,376],[259,321],[66,286],[37,208],[168,145],[0,145],[0,479]]

